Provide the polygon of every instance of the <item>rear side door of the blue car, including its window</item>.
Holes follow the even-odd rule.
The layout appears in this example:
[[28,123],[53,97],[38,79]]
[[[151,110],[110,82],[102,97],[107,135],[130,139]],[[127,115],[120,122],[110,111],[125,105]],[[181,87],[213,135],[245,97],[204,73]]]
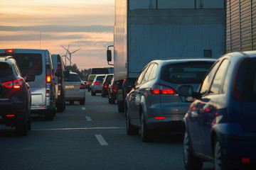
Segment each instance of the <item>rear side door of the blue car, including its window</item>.
[[[230,61],[224,59],[217,72],[214,74],[206,96],[201,98],[201,109],[198,111],[199,126],[201,131],[201,145],[203,153],[212,157],[210,131],[215,125],[215,118],[226,108],[226,89],[223,88],[225,77],[229,77],[228,72]],[[228,76],[227,76],[228,74]]]

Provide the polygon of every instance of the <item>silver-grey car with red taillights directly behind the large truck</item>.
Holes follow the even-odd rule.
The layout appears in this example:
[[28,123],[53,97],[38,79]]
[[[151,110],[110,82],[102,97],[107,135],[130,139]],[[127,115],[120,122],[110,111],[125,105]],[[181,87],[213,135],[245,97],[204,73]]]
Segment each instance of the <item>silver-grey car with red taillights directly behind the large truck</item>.
[[[182,131],[182,119],[193,98],[179,96],[176,89],[181,84],[198,89],[215,61],[154,60],[147,64],[126,97],[127,134],[136,135],[141,129],[142,142],[149,142],[159,129]],[[124,82],[124,86],[128,84],[131,82]]]

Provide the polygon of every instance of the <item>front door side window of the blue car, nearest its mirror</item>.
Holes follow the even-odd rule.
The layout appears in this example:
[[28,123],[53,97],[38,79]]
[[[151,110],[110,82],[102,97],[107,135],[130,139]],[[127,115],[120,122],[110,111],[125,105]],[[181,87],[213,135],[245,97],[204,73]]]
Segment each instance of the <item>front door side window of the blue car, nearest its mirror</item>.
[[203,80],[203,84],[201,85],[201,89],[200,89],[200,94],[204,95],[207,94],[208,89],[210,87],[210,81],[213,78],[216,70],[218,69],[220,65],[220,62],[215,62],[215,64],[213,65],[213,67],[211,67],[210,71],[208,72],[206,78]]

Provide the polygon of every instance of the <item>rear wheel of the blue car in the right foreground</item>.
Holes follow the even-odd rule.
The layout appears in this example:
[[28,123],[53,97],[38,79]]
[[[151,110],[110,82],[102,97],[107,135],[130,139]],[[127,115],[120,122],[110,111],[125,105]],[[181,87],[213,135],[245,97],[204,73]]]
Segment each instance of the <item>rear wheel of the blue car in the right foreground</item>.
[[215,140],[214,155],[213,155],[214,169],[224,170],[228,168],[225,159],[223,157],[223,149],[218,140]]

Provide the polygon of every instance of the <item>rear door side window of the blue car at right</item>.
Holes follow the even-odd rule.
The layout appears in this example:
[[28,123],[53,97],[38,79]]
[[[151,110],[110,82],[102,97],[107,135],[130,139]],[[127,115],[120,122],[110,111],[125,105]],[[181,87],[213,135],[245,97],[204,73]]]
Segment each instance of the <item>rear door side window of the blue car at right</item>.
[[223,62],[220,64],[220,67],[218,71],[215,74],[215,77],[213,78],[213,83],[210,86],[210,94],[220,94],[220,88],[223,80],[225,79],[225,74],[228,69],[228,60],[223,60]]

